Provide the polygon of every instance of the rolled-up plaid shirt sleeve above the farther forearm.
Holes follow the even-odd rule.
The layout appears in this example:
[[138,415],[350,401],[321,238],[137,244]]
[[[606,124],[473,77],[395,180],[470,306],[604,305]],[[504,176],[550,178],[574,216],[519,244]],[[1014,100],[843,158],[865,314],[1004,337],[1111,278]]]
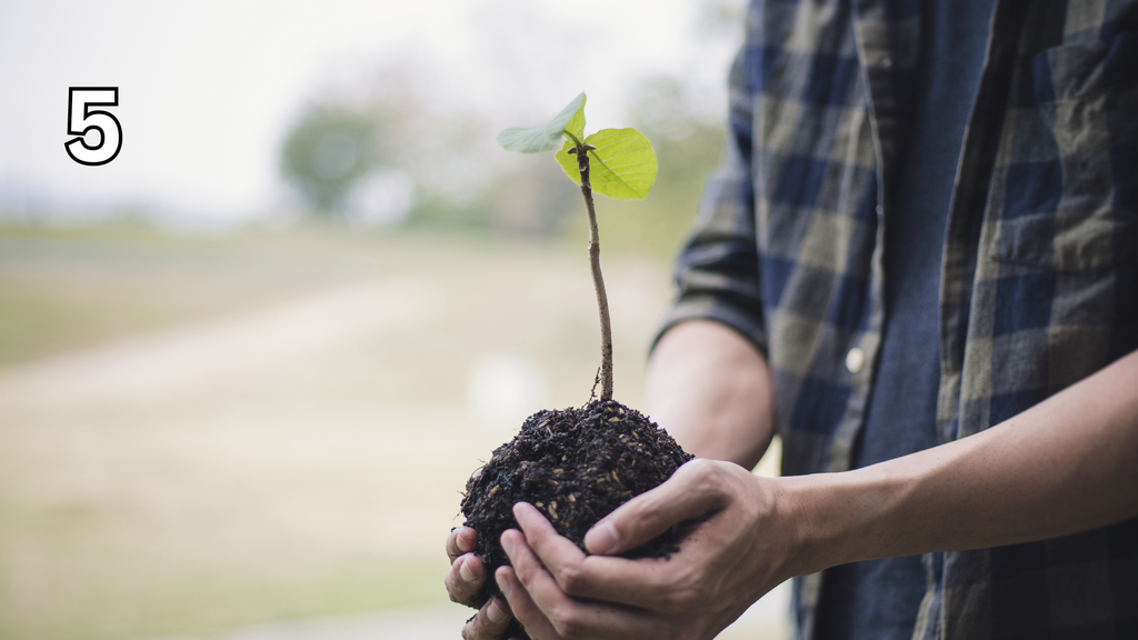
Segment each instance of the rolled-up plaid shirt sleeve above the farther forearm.
[[712,320],[767,353],[751,180],[753,108],[744,56],[740,54],[731,71],[723,158],[708,177],[699,215],[676,260],[676,300],[652,340],[653,347],[665,331],[681,322]]

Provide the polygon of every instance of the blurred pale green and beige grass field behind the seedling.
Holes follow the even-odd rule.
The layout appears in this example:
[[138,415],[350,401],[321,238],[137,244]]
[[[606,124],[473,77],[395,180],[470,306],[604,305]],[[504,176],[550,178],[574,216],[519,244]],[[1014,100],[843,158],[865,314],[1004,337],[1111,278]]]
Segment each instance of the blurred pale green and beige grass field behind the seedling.
[[[611,253],[636,407],[668,269]],[[424,233],[0,229],[0,319],[3,640],[445,602],[461,487],[517,426],[473,415],[475,366],[567,407],[599,351],[583,247]]]

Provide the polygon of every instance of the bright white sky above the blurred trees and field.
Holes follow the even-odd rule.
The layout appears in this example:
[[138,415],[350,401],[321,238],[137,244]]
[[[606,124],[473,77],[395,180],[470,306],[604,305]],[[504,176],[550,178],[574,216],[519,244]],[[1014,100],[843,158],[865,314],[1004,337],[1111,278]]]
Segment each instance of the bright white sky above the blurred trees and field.
[[[582,90],[591,122],[626,125],[634,81],[655,73],[721,112],[737,43],[696,38],[701,3],[0,0],[0,210],[264,214],[305,102],[399,60],[428,72],[436,106],[495,128],[541,124]],[[119,89],[123,148],[104,166],[64,150],[68,88],[82,85]]]

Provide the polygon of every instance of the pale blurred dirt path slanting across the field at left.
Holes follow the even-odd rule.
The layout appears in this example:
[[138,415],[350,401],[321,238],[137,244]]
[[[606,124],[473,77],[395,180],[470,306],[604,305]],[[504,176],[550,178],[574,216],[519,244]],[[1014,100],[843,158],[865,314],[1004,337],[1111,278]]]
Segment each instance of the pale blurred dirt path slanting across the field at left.
[[121,401],[178,393],[218,375],[271,368],[430,317],[440,306],[423,278],[388,277],[264,311],[41,360],[0,374],[0,400]]

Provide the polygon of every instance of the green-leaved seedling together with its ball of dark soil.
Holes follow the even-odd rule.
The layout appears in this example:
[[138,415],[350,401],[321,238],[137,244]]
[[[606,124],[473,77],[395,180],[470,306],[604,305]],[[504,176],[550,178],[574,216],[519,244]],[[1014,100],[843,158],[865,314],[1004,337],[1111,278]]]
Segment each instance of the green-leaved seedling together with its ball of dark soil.
[[[655,181],[655,151],[635,129],[602,129],[587,138],[584,130],[582,93],[545,126],[506,129],[497,137],[511,151],[549,151],[560,146],[558,164],[580,186],[601,314],[601,396],[579,409],[534,413],[467,483],[462,512],[465,524],[478,532],[477,553],[487,575],[510,563],[498,540],[503,531],[518,526],[511,511],[514,503],[526,501],[536,507],[559,534],[584,550],[585,533],[596,520],[668,479],[692,458],[667,432],[612,400],[612,330],[593,191],[618,199],[643,199]],[[625,556],[667,556],[678,543],[679,533],[669,531]],[[487,580],[475,604],[481,606],[500,593],[497,584]],[[510,623],[504,637],[528,638],[517,621]]]

